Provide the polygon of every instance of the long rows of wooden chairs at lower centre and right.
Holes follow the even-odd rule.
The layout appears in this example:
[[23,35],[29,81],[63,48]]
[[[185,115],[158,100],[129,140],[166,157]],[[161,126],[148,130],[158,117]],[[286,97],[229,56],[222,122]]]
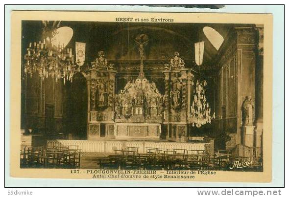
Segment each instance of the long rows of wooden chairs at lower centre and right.
[[250,158],[237,158],[225,150],[210,155],[208,150],[146,147],[146,153],[139,153],[137,147],[126,147],[115,150],[115,154],[99,157],[98,165],[100,169],[228,170],[234,160],[244,162]]

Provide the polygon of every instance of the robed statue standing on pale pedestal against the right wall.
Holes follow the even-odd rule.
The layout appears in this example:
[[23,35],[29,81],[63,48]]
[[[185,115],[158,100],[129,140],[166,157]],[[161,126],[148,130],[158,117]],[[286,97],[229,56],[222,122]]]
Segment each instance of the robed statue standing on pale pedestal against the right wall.
[[251,96],[246,96],[242,105],[242,123],[244,126],[253,126],[254,104]]

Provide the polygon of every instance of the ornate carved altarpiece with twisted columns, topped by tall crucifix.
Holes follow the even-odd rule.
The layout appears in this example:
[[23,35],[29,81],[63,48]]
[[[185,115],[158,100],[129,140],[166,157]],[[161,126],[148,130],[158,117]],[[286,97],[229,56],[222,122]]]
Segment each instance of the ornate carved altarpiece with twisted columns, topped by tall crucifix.
[[[103,51],[92,62],[87,77],[88,139],[187,141],[193,94],[191,70],[185,67],[178,52],[170,62],[144,61],[148,38],[141,34],[135,42],[140,61],[126,66],[132,72],[123,73],[121,62],[109,63]],[[133,70],[139,72],[137,76]],[[147,73],[152,80],[146,78]],[[154,76],[164,84],[162,90]],[[120,78],[127,80],[124,87],[117,84]]]

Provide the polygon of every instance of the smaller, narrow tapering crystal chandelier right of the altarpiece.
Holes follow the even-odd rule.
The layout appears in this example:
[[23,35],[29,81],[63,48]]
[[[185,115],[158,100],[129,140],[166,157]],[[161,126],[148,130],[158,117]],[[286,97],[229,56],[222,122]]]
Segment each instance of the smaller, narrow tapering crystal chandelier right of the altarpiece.
[[211,123],[211,119],[215,119],[215,112],[211,116],[211,108],[206,100],[207,81],[199,82],[197,80],[195,88],[193,88],[193,103],[188,112],[188,121],[192,126],[200,128],[202,125]]

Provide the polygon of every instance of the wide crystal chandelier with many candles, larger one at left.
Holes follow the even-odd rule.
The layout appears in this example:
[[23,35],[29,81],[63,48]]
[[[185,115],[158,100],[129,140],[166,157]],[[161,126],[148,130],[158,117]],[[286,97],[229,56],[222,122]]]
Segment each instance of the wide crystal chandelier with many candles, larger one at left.
[[80,71],[80,67],[74,62],[72,48],[65,48],[64,44],[57,46],[52,42],[45,40],[39,43],[29,44],[27,53],[24,56],[24,73],[32,74],[38,72],[39,76],[44,80],[51,76],[55,82],[63,79],[72,81],[72,77],[76,72]]

